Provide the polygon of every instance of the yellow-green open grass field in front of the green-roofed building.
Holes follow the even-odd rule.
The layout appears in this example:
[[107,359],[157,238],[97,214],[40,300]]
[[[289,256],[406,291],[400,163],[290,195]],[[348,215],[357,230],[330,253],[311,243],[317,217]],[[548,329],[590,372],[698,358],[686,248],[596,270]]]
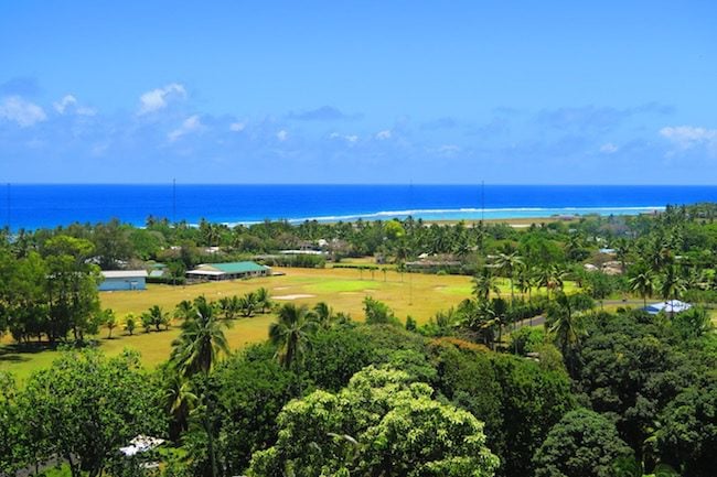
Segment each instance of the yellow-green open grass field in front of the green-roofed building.
[[[335,312],[350,313],[355,319],[363,319],[363,299],[371,295],[386,302],[404,321],[413,316],[419,324],[426,323],[436,312],[457,305],[471,294],[471,279],[456,275],[400,274],[395,271],[371,272],[356,269],[277,269],[285,275],[260,278],[234,282],[212,282],[186,286],[148,285],[141,292],[103,292],[103,307],[115,311],[122,321],[128,313],[140,314],[152,305],[160,305],[164,311],[173,311],[182,300],[193,300],[205,295],[210,300],[222,296],[242,295],[260,286],[267,288],[272,299],[278,303],[306,303],[309,306],[324,301]],[[363,277],[363,279],[362,279]],[[503,296],[510,295],[507,281],[500,284]],[[567,284],[568,290],[572,284]],[[239,349],[246,344],[257,343],[267,338],[269,324],[274,315],[256,315],[252,318],[239,318],[232,322],[226,336],[233,349]],[[128,336],[121,328],[113,332],[114,338],[107,339],[107,330],[103,329],[96,337],[100,349],[113,356],[124,348],[133,348],[141,353],[142,360],[148,367],[164,361],[170,354],[171,343],[179,335],[179,328],[172,326],[167,332],[143,333],[137,329],[133,336]],[[36,353],[18,353],[10,346],[9,337],[3,339],[0,347],[0,370],[12,371],[22,381],[34,369],[47,367],[56,351],[40,350]]]

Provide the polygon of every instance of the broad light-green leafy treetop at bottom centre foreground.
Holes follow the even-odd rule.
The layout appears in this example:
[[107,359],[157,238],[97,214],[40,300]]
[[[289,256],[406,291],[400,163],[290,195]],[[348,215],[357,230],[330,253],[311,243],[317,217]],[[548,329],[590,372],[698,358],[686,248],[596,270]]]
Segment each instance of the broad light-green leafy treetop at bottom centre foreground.
[[283,406],[276,444],[248,475],[491,477],[499,459],[483,423],[432,399],[410,375],[373,367],[338,394],[314,391]]

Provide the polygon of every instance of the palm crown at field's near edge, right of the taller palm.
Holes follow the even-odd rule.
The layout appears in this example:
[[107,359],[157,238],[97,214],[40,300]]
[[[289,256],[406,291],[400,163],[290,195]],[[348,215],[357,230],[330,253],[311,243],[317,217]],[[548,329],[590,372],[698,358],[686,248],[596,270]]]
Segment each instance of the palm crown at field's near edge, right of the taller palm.
[[269,326],[269,342],[277,347],[277,357],[289,369],[300,362],[309,337],[315,332],[317,322],[307,305],[287,303]]

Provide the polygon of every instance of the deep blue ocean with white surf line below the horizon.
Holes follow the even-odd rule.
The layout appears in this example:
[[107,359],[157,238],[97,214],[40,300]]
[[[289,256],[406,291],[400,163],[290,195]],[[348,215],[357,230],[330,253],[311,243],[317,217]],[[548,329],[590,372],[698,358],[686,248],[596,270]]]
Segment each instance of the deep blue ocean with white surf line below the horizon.
[[639,214],[667,204],[717,202],[717,186],[593,185],[8,185],[2,225],[13,230],[148,216],[196,224],[265,219],[302,221],[478,219]]

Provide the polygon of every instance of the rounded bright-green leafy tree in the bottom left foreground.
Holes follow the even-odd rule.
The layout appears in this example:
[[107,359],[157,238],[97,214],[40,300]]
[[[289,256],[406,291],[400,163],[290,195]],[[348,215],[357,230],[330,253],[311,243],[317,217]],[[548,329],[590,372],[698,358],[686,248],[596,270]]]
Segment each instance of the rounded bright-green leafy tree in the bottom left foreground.
[[25,432],[65,459],[74,477],[96,477],[118,447],[163,426],[154,397],[138,355],[67,351],[30,378],[19,412]]

